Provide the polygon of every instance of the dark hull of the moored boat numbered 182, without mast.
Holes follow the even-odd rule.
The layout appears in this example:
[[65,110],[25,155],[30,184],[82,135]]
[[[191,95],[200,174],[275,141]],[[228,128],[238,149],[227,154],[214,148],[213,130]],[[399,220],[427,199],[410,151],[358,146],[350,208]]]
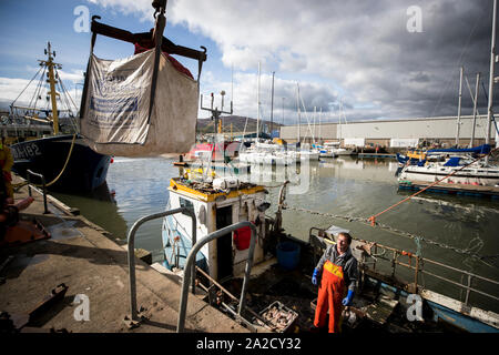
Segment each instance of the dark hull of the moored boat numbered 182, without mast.
[[[61,192],[89,192],[101,186],[108,176],[111,156],[91,150],[81,136],[77,136],[71,156],[68,155],[72,134],[26,141],[11,145],[14,160],[12,170],[27,179],[27,171],[42,174],[49,184],[62,172],[49,190]],[[65,168],[64,168],[65,165]],[[40,183],[37,176],[30,180]]]

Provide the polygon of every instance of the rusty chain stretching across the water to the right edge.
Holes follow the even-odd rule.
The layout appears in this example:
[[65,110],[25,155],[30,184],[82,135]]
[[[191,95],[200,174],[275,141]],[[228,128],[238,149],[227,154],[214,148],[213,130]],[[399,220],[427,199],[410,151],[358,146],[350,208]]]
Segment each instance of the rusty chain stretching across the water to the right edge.
[[[283,209],[284,210],[289,210],[289,211],[306,212],[306,213],[316,214],[316,215],[320,215],[320,216],[325,216],[325,217],[333,217],[333,219],[337,219],[337,220],[345,220],[347,222],[359,222],[359,223],[364,223],[366,225],[373,225],[371,221],[369,221],[368,219],[364,219],[364,217],[354,217],[354,216],[347,216],[347,215],[338,215],[338,214],[330,214],[330,213],[324,213],[324,212],[318,212],[318,211],[312,211],[312,210],[301,209],[301,207],[291,207],[287,204],[283,204]],[[420,245],[420,243],[425,242],[426,244],[429,244],[429,245],[435,245],[435,246],[439,246],[441,248],[451,250],[451,251],[454,251],[454,252],[456,252],[458,254],[464,254],[464,255],[468,255],[468,256],[471,256],[471,257],[479,258],[481,262],[483,262],[483,260],[488,257],[488,256],[482,256],[482,255],[472,253],[472,252],[469,251],[469,248],[459,248],[459,247],[456,247],[456,246],[447,245],[445,243],[427,240],[427,239],[425,239],[422,236],[419,236],[419,235],[416,235],[416,234],[413,234],[413,233],[409,233],[409,232],[406,232],[406,231],[401,231],[401,230],[395,229],[393,226],[389,226],[389,225],[386,225],[386,224],[383,224],[383,223],[379,223],[379,222],[376,222],[373,226],[379,227],[381,230],[391,232],[394,234],[398,234],[398,235],[401,235],[401,236],[405,236],[405,237],[414,240],[415,243],[416,243],[416,246],[417,246],[417,255],[418,256],[421,256],[420,255],[421,254],[421,245]],[[491,267],[498,267],[496,265],[492,266],[492,265],[490,265],[488,263],[486,263],[486,264],[491,266]]]

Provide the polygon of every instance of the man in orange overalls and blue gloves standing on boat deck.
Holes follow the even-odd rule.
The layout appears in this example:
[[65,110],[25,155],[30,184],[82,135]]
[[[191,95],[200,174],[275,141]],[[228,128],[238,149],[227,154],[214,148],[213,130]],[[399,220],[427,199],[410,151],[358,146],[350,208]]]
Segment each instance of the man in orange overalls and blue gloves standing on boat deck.
[[358,278],[357,260],[352,254],[350,244],[352,236],[339,233],[336,244],[326,248],[314,270],[312,283],[317,285],[320,281],[320,287],[313,329],[325,327],[329,311],[329,333],[340,332],[343,306],[352,304]]

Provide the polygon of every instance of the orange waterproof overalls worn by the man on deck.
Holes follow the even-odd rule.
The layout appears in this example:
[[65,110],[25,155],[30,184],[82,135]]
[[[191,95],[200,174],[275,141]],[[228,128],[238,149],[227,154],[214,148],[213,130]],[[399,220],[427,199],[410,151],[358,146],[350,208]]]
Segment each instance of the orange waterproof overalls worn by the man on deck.
[[326,325],[327,311],[329,310],[329,333],[339,332],[344,295],[345,280],[343,277],[343,267],[326,261],[323,266],[323,277],[317,296],[315,326],[323,327]]

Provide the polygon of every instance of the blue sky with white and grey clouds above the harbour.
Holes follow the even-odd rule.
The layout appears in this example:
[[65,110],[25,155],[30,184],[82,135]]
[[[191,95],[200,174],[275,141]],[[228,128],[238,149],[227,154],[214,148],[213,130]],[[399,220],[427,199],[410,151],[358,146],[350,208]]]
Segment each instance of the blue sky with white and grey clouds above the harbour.
[[[84,24],[82,7],[101,22],[144,32],[153,27],[151,2],[2,0],[0,100],[17,98],[49,40],[78,99],[91,36],[75,30]],[[164,34],[207,48],[201,91],[225,90],[238,115],[256,118],[259,63],[264,119],[271,116],[273,72],[277,122],[296,122],[298,87],[301,110],[310,119],[314,108],[332,122],[339,108],[348,121],[441,116],[457,114],[460,65],[472,91],[481,73],[478,105],[486,113],[491,16],[492,0],[169,0]],[[131,44],[98,38],[98,57],[132,53]],[[197,73],[194,61],[177,59]],[[472,113],[466,80],[462,105],[462,114]]]

